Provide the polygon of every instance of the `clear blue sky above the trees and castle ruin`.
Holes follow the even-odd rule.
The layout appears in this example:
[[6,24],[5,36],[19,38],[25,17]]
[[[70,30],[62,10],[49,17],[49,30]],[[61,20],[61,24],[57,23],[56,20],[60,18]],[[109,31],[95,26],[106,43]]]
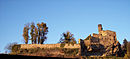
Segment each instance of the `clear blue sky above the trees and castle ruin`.
[[115,31],[122,44],[130,41],[130,0],[0,0],[0,53],[9,43],[23,44],[24,24],[42,21],[49,27],[45,44],[66,31],[84,39],[98,33],[98,24]]

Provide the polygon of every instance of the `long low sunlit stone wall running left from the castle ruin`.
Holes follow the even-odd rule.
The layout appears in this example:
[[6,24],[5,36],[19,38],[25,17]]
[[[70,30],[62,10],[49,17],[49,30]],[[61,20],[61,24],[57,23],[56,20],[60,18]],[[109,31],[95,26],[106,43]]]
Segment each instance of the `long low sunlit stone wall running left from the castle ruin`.
[[[21,44],[21,49],[30,48],[60,48],[60,44]],[[64,48],[80,48],[79,44],[65,44]]]

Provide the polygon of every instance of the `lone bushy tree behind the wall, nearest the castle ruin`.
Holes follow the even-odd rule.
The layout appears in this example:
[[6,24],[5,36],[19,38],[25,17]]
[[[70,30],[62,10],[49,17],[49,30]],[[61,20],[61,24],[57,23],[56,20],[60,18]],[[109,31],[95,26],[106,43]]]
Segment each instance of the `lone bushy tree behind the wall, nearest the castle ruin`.
[[62,37],[59,41],[59,43],[68,43],[68,44],[76,44],[76,40],[73,37],[73,34],[71,34],[69,31],[66,33],[62,33]]

